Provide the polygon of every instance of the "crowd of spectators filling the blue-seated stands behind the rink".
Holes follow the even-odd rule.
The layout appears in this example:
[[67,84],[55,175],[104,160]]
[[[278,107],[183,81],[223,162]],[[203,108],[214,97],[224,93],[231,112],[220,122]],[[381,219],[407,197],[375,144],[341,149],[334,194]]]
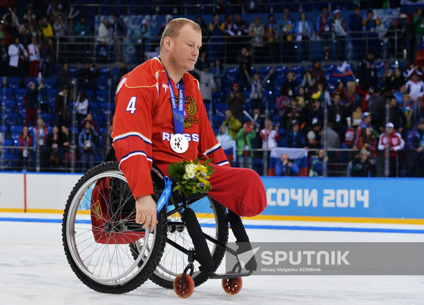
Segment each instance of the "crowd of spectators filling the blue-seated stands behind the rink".
[[[192,74],[199,80],[217,138],[237,147],[233,165],[257,169],[258,164],[263,166],[264,151],[305,148],[310,176],[323,175],[324,167],[333,175],[384,175],[385,158],[390,160],[391,176],[423,176],[424,60],[418,55],[413,60],[379,60],[383,52],[375,28],[381,20],[372,10],[357,8],[344,20],[339,9],[329,12],[324,6],[316,20],[308,20],[305,13],[295,20],[284,8],[281,17],[270,14],[266,23],[257,17],[250,25],[241,14],[222,19],[223,9],[216,13],[209,26],[201,16],[196,18],[204,47]],[[169,22],[172,16],[166,19]],[[53,1],[43,11],[28,1],[19,10],[11,6],[2,20],[0,76],[8,76],[2,99],[7,101],[3,107],[10,107],[2,117],[6,124],[0,141],[12,139],[20,146],[17,167],[32,164],[33,147],[40,148],[44,169],[60,170],[73,161],[89,168],[101,161],[110,144],[114,111],[108,79],[112,75],[114,87],[128,72],[122,62],[127,34],[122,17],[114,13],[113,21],[103,20],[91,50],[99,63],[108,63],[113,53],[119,68],[112,72],[86,60],[94,27],[72,7]],[[387,54],[399,59],[406,44],[417,51],[424,35],[421,24],[422,9],[393,19],[385,37]],[[165,26],[166,22],[156,38]],[[393,33],[402,39],[394,43]],[[148,21],[143,20],[134,41],[139,62],[145,59],[151,35]],[[56,45],[56,36],[79,43]],[[311,65],[287,64],[295,56],[310,60],[312,36],[321,39],[322,58],[339,65],[318,60]],[[347,36],[355,64],[344,61]],[[82,54],[80,69],[70,67],[72,60],[56,62],[58,52]],[[224,64],[224,58],[235,58],[237,66]],[[72,82],[75,78],[77,83]],[[273,173],[298,175],[299,169],[283,154]]]

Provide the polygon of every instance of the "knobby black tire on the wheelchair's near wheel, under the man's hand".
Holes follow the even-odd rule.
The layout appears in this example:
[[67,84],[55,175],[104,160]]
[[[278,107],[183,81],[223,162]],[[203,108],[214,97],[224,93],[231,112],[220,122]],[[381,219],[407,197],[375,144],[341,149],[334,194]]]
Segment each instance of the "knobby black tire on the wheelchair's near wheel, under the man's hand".
[[[104,285],[99,283],[98,281],[95,281],[89,277],[86,276],[81,270],[78,268],[77,264],[73,260],[73,257],[70,253],[70,249],[68,247],[67,243],[67,216],[69,214],[70,204],[75,197],[78,190],[81,188],[81,186],[88,181],[89,179],[95,177],[95,175],[110,172],[110,171],[117,171],[119,170],[118,164],[116,161],[110,161],[105,162],[103,164],[99,164],[98,166],[93,167],[90,169],[86,174],[78,180],[78,183],[74,186],[73,190],[71,191],[71,194],[69,195],[69,198],[67,200],[67,204],[65,206],[64,214],[63,214],[63,222],[62,222],[62,241],[63,246],[65,250],[65,254],[68,260],[68,263],[70,264],[73,272],[75,272],[76,276],[83,282],[86,286],[89,288],[103,292],[103,293],[110,293],[110,294],[123,294],[129,291],[132,291],[142,285],[151,275],[151,273],[156,269],[156,266],[158,266],[162,254],[164,252],[165,248],[165,238],[167,236],[167,221],[166,221],[166,212],[165,209],[162,209],[162,211],[159,214],[158,221],[159,223],[156,225],[156,238],[153,244],[153,252],[151,255],[148,256],[148,261],[146,265],[144,266],[143,270],[140,271],[134,278],[127,283],[120,284],[117,283],[116,286],[111,285]],[[154,184],[154,182],[153,182]],[[156,185],[154,187],[157,189]]]

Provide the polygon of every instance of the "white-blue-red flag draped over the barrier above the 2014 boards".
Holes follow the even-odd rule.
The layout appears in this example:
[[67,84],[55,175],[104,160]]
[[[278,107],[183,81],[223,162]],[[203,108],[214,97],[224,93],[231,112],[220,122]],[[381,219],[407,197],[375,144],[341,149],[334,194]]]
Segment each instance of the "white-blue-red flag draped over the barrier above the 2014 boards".
[[290,159],[293,159],[299,168],[299,175],[296,176],[307,176],[308,175],[308,151],[304,148],[287,148],[287,147],[274,147],[271,149],[271,157],[269,162],[268,176],[275,175],[275,166],[281,155],[286,153]]

